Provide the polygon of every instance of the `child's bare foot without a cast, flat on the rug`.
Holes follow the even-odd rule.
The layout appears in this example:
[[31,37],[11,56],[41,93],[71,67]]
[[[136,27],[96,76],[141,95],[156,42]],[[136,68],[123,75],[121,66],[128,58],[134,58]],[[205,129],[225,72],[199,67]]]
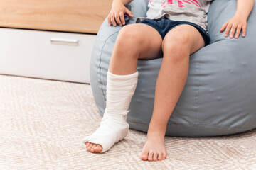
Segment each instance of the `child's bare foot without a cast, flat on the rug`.
[[161,128],[156,130],[158,129],[156,126],[151,125],[151,127],[155,129],[151,130],[151,128],[149,128],[141,158],[144,161],[161,161],[162,159],[166,159],[166,147],[164,144],[165,129]]

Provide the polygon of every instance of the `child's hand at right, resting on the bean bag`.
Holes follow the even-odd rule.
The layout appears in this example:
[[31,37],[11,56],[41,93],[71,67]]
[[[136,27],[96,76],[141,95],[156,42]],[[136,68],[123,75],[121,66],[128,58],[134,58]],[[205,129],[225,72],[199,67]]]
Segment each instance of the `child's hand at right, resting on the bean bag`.
[[228,37],[228,33],[230,32],[230,38],[233,38],[236,30],[235,38],[238,38],[240,31],[242,29],[242,37],[245,37],[246,27],[247,27],[246,19],[240,16],[234,16],[232,19],[224,23],[223,26],[221,26],[220,33],[222,33],[223,30],[225,30],[225,37]]

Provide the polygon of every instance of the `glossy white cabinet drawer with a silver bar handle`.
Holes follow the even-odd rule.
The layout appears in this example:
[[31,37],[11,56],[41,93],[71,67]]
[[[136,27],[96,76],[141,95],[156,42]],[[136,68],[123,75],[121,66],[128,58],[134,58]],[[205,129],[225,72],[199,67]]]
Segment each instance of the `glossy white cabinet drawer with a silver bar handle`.
[[0,28],[0,74],[90,83],[96,35]]

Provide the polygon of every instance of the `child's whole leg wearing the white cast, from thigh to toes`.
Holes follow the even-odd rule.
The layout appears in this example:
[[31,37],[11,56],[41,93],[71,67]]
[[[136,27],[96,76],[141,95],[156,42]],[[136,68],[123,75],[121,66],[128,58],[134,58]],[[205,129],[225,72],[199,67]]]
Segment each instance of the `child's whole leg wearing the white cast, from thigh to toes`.
[[161,35],[145,24],[130,24],[120,30],[107,73],[107,106],[100,128],[83,140],[90,152],[105,152],[127,135],[127,110],[137,86],[137,60],[161,57],[161,42]]

